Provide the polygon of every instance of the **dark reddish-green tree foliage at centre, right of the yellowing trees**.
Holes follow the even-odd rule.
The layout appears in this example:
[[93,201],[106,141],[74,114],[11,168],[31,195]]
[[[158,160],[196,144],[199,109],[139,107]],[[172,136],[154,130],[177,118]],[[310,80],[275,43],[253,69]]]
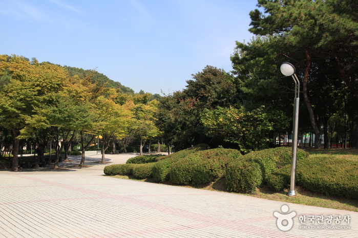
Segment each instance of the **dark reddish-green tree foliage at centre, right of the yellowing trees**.
[[[164,133],[165,144],[179,150],[212,143],[213,138],[206,135],[200,121],[205,108],[236,103],[236,86],[224,70],[206,66],[192,77],[194,80],[188,80],[184,90],[161,98],[157,112],[157,126]],[[216,141],[212,144],[217,147]]]

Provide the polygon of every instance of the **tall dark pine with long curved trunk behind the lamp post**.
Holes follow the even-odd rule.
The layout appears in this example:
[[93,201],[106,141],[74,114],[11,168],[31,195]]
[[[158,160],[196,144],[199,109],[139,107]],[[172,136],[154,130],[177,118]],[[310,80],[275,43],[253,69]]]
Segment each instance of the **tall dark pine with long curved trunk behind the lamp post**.
[[342,69],[342,79],[351,92],[358,96],[356,88],[352,86],[356,78],[348,81],[341,66],[341,54],[339,54],[339,52],[348,52],[348,48],[350,52],[357,52],[357,4],[355,1],[333,0],[259,0],[258,7],[263,7],[265,14],[258,9],[250,12],[250,32],[257,35],[277,34],[284,39],[286,45],[300,49],[303,53],[303,60],[297,60],[297,56],[289,54],[286,54],[286,57],[291,61],[297,60],[294,63],[297,63],[298,68],[302,65],[303,96],[316,135],[315,148],[320,148],[320,128],[308,91],[310,70],[314,67],[312,62],[315,59],[334,57],[338,68]]

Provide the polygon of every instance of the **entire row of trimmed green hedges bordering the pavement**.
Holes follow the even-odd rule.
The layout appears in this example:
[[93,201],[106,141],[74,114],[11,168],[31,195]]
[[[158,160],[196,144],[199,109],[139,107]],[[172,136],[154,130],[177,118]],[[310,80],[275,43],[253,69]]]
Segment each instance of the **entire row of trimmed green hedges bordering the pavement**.
[[[273,191],[280,191],[290,185],[289,147],[244,156],[237,150],[206,149],[206,145],[200,145],[156,157],[157,162],[109,165],[104,168],[104,173],[133,175],[141,179],[153,176],[157,182],[170,180],[175,184],[194,185],[226,177],[227,189],[236,192],[252,191],[263,184]],[[326,195],[358,199],[358,161],[331,156],[308,158],[308,153],[300,149],[297,159],[297,185]]]

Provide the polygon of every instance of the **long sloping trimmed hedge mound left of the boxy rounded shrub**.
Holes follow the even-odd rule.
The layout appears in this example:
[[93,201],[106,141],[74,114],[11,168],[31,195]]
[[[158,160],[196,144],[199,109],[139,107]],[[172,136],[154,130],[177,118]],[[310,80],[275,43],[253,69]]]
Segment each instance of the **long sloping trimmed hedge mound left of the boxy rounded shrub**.
[[194,185],[208,183],[225,176],[229,161],[242,157],[233,149],[212,149],[199,151],[176,161],[170,168],[171,182]]

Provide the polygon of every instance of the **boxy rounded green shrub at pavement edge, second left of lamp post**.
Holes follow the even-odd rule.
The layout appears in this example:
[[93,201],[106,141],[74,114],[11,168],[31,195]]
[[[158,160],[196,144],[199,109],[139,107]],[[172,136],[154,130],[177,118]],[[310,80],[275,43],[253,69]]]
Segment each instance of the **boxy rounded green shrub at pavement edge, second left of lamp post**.
[[235,192],[251,192],[262,184],[260,165],[244,159],[231,161],[226,166],[226,188]]

